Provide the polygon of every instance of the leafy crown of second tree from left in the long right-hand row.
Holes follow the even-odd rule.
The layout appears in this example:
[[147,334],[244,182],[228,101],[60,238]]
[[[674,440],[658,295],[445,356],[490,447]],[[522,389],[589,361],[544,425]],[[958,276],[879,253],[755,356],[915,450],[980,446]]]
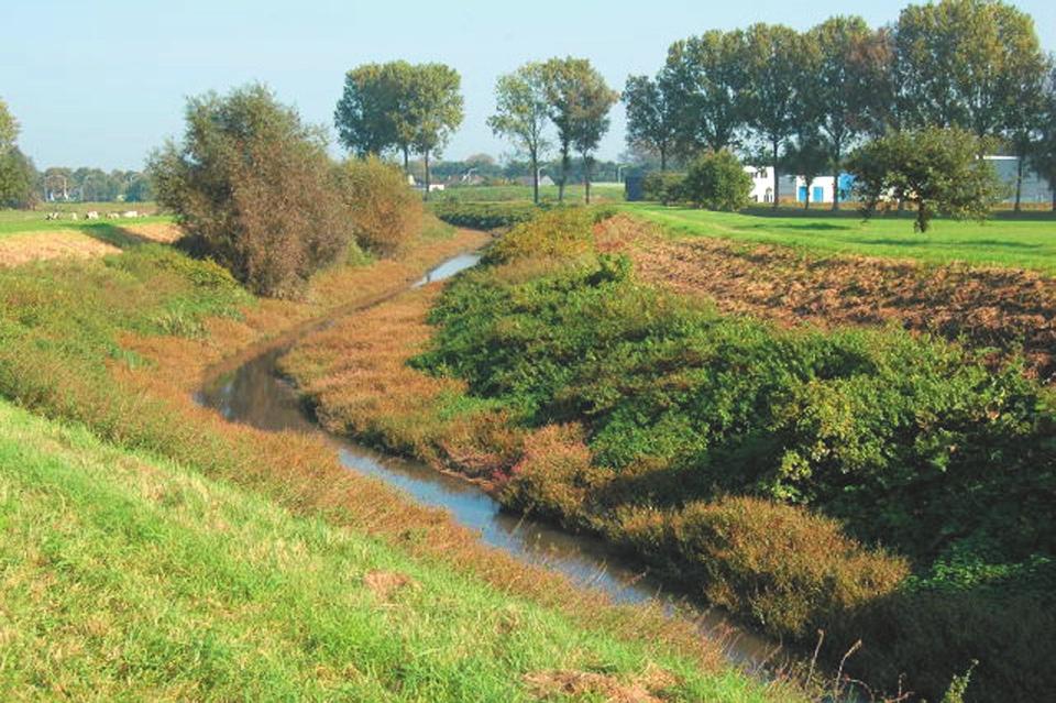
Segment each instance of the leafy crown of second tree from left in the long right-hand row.
[[739,30],[712,30],[668,50],[662,75],[675,95],[676,142],[683,152],[735,145],[745,124],[745,52]]

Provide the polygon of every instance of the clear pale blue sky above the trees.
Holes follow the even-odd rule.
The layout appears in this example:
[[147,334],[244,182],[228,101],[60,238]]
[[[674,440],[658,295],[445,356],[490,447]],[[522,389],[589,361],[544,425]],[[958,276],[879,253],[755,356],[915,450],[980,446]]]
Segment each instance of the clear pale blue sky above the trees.
[[[844,12],[873,25],[906,2]],[[1014,4],[1056,50],[1056,2]],[[0,97],[22,122],[38,167],[139,168],[182,130],[186,96],[262,80],[311,122],[331,124],[344,72],[365,62],[439,61],[462,74],[465,122],[444,155],[501,155],[484,120],[496,76],[529,59],[573,54],[614,88],[653,73],[668,45],[707,29],[820,22],[831,3],[702,0],[3,0]],[[617,107],[601,155],[623,150]]]

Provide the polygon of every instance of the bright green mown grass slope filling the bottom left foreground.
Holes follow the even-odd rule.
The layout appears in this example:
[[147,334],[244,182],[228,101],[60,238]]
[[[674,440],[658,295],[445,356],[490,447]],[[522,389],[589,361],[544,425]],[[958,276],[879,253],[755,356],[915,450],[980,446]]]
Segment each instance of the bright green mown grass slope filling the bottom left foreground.
[[762,700],[6,402],[0,525],[0,690],[28,699],[521,701],[532,672],[659,663],[668,700]]

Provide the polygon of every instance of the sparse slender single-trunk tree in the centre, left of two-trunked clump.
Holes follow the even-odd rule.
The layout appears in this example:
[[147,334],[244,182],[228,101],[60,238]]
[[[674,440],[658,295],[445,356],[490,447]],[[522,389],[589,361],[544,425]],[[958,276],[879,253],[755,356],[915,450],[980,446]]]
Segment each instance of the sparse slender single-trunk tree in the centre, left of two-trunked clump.
[[514,141],[531,168],[532,200],[539,202],[539,158],[550,146],[546,138],[549,105],[542,64],[525,64],[495,84],[495,114],[487,119],[495,134]]

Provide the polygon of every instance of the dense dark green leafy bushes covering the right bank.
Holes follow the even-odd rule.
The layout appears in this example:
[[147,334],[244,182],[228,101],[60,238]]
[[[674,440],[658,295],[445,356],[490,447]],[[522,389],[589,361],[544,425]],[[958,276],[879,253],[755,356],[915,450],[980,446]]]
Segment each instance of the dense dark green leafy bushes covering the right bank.
[[[626,263],[453,283],[419,363],[530,425],[587,418],[596,461],[684,472],[662,505],[725,491],[803,503],[931,559],[972,535],[1054,548],[1054,417],[1015,367],[900,331],[778,331],[638,286]],[[730,471],[736,466],[737,471]],[[1002,525],[1014,519],[1016,530]]]

